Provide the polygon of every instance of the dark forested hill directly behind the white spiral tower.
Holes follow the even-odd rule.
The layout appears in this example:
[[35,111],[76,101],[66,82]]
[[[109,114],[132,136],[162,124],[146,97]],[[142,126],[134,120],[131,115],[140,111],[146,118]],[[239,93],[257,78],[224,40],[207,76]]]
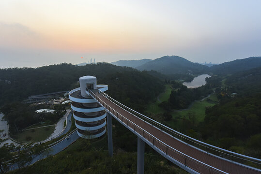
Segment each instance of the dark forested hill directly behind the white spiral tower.
[[159,79],[133,68],[109,63],[86,66],[62,63],[40,68],[0,69],[0,105],[22,101],[30,95],[79,87],[77,81],[84,75],[96,76],[98,84],[108,85],[109,95],[135,108],[164,90]]

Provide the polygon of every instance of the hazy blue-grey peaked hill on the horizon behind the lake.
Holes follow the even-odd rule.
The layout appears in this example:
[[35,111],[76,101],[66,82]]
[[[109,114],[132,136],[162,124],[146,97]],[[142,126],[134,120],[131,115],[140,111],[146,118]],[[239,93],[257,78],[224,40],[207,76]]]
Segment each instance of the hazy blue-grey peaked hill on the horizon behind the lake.
[[157,58],[153,61],[149,61],[139,67],[138,70],[155,70],[163,74],[175,74],[175,73],[194,73],[202,74],[209,72],[209,67],[201,65],[199,63],[193,63],[185,58],[179,56],[164,56]]

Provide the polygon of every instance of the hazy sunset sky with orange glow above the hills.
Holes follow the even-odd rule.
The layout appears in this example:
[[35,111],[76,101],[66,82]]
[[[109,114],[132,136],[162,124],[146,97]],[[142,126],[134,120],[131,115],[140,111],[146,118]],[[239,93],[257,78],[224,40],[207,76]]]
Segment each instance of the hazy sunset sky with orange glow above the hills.
[[261,56],[260,9],[261,0],[0,0],[0,68]]

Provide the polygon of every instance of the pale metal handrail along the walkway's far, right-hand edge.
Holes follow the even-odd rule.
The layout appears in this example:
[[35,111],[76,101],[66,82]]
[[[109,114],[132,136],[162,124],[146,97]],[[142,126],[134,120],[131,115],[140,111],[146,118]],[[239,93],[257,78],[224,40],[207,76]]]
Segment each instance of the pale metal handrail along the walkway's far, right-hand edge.
[[[236,156],[230,155],[230,156],[235,157],[235,158],[239,158],[239,159],[242,159],[242,160],[246,160],[245,158],[247,158],[247,159],[251,159],[251,160],[247,160],[247,161],[251,161],[251,162],[254,162],[254,163],[261,164],[261,163],[256,162],[256,161],[252,161],[252,160],[257,160],[257,161],[260,161],[260,162],[261,162],[261,159],[257,159],[257,158],[254,158],[254,157],[249,157],[249,156],[242,155],[242,154],[239,154],[239,153],[236,153],[236,152],[232,152],[232,151],[229,151],[229,150],[226,150],[226,149],[217,147],[217,146],[215,146],[215,145],[210,145],[210,144],[201,142],[200,140],[197,140],[197,139],[194,139],[194,138],[192,138],[192,137],[189,137],[189,136],[187,136],[187,135],[185,135],[185,134],[183,134],[183,133],[181,133],[181,132],[175,131],[175,130],[173,130],[173,129],[171,129],[171,128],[169,128],[169,127],[167,127],[167,126],[165,126],[165,125],[163,125],[163,124],[161,124],[161,123],[155,121],[154,119],[152,119],[152,118],[150,118],[150,117],[148,117],[148,116],[144,116],[144,115],[138,113],[137,111],[135,111],[135,110],[133,110],[133,109],[131,109],[131,108],[125,106],[124,104],[122,104],[122,103],[116,101],[115,99],[111,98],[110,96],[108,96],[106,93],[104,93],[104,92],[102,92],[102,91],[100,91],[100,90],[99,90],[99,92],[100,92],[104,97],[109,98],[109,99],[113,100],[114,102],[117,102],[118,104],[122,105],[122,106],[125,107],[126,109],[128,109],[128,110],[130,110],[130,111],[132,111],[132,112],[134,112],[134,113],[136,113],[136,114],[138,114],[139,116],[144,117],[145,119],[148,119],[148,120],[152,121],[152,122],[155,123],[156,125],[158,125],[158,126],[164,128],[164,129],[166,129],[167,131],[170,131],[170,132],[172,132],[172,133],[174,133],[174,134],[176,134],[176,135],[178,135],[178,136],[181,136],[182,138],[184,138],[184,139],[186,139],[186,140],[189,140],[189,141],[191,141],[191,142],[193,142],[193,143],[196,143],[196,144],[198,144],[198,145],[203,144],[203,145],[201,145],[201,146],[207,147],[207,148],[212,149],[212,150],[218,149],[218,150],[215,150],[215,151],[220,152],[220,153],[223,153],[223,154],[226,154],[226,155],[230,155],[230,154],[236,155]],[[115,104],[116,104],[116,103],[115,103]],[[128,111],[127,111],[127,112],[128,112]],[[208,147],[208,146],[213,147],[213,148],[215,148],[215,149],[210,148],[210,147]],[[224,151],[224,152],[227,152],[227,153],[230,153],[230,154],[221,152],[221,151],[219,151],[219,150]],[[240,157],[242,157],[242,158],[237,157],[237,156],[240,156]]]

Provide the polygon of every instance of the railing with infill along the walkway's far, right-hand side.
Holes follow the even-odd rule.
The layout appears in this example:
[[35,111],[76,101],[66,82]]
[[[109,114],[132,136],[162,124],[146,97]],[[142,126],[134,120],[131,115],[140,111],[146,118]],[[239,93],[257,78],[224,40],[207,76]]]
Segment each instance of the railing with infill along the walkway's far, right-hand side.
[[248,162],[248,165],[249,165],[249,162],[253,162],[256,165],[259,165],[259,167],[261,165],[261,159],[257,159],[257,158],[249,157],[249,156],[242,155],[242,154],[239,154],[239,153],[235,153],[235,152],[217,147],[215,145],[210,145],[210,144],[204,143],[202,141],[199,141],[197,139],[191,138],[187,135],[184,135],[183,133],[175,131],[175,130],[155,121],[154,119],[152,119],[148,116],[144,116],[144,115],[138,113],[137,111],[135,111],[135,110],[123,105],[122,103],[116,101],[115,99],[111,98],[110,96],[108,96],[106,93],[104,93],[102,91],[99,91],[99,93],[102,94],[104,97],[106,97],[111,102],[113,102],[116,105],[118,105],[119,107],[123,108],[125,111],[129,112],[130,114],[145,119],[152,126],[157,127],[161,131],[165,131],[166,133],[169,133],[173,137],[177,137],[178,139],[182,138],[182,140],[184,142],[189,143],[190,145],[198,146],[200,149],[203,148],[208,153],[213,153],[218,157],[222,157],[222,158],[225,158],[225,159],[228,159],[228,160],[231,160],[231,161],[236,161],[236,162],[239,162],[239,163]]

